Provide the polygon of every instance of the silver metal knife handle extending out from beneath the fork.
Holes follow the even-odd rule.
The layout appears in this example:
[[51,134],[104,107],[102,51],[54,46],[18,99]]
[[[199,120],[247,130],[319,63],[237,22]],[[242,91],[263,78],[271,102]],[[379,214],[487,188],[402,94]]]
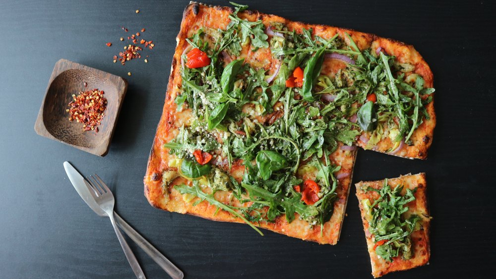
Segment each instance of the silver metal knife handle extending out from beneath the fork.
[[124,230],[124,232],[134,241],[143,251],[148,254],[167,274],[173,279],[182,279],[184,273],[176,267],[169,259],[160,253],[150,242],[143,238],[137,231],[135,231],[128,223],[124,221],[117,213],[114,212],[116,222]]

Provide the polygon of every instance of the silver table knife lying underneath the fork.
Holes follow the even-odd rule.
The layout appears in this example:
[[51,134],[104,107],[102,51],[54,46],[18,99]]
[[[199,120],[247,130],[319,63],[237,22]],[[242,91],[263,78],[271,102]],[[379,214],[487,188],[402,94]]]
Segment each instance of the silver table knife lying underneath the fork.
[[[72,186],[76,189],[77,193],[83,201],[99,216],[107,217],[107,214],[97,205],[95,200],[91,197],[88,187],[84,183],[84,177],[74,168],[69,162],[64,162],[63,167],[67,176],[69,177]],[[137,231],[135,231],[128,223],[124,221],[116,212],[114,212],[114,218],[117,224],[124,230],[124,232],[138,244],[143,251],[148,254],[162,269],[164,269],[167,274],[169,274],[173,279],[182,279],[184,273],[176,267],[171,261],[169,261],[162,253],[160,253],[155,247],[153,247],[150,242],[143,238]]]

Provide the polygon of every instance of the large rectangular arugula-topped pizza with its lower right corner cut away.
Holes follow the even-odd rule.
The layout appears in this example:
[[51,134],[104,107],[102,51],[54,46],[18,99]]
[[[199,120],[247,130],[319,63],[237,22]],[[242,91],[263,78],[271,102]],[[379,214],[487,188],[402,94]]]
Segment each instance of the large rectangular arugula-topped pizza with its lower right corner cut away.
[[247,8],[186,7],[145,196],[336,244],[357,146],[427,156],[432,72],[412,46]]

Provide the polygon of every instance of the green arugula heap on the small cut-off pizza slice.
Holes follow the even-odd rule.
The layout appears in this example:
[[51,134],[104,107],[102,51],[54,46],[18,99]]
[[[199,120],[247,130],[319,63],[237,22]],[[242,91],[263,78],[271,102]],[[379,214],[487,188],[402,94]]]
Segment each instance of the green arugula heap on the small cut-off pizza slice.
[[421,219],[415,214],[405,218],[404,213],[408,211],[406,204],[415,200],[414,193],[417,188],[414,190],[407,188],[405,195],[401,195],[403,186],[398,185],[391,189],[385,179],[380,190],[372,187],[367,187],[366,190],[379,194],[379,198],[367,209],[372,215],[369,232],[375,236],[376,243],[381,241],[375,253],[388,262],[392,262],[392,258],[399,255],[403,259],[410,259],[412,257],[410,234]]

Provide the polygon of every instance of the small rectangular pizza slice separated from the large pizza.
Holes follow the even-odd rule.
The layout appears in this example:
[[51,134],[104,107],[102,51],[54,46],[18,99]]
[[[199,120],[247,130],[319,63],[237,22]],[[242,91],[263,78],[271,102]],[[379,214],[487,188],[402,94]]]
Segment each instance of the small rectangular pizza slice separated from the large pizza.
[[429,264],[425,173],[355,185],[373,277]]

